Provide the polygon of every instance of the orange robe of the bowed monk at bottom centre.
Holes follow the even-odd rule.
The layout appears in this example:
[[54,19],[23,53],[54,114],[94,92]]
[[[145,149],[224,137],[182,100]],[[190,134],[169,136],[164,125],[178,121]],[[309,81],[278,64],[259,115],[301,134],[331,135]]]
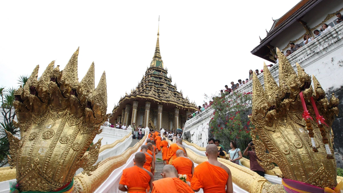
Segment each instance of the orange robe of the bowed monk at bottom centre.
[[178,178],[162,178],[152,184],[151,193],[194,193],[189,185]]

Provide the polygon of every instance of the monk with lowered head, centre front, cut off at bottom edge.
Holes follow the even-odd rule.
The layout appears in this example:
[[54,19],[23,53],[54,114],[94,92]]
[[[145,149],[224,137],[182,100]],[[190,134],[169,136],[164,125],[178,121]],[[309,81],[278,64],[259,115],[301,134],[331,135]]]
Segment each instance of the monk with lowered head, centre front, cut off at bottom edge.
[[180,180],[174,166],[165,165],[162,169],[162,179],[153,182],[151,193],[194,193],[190,183]]

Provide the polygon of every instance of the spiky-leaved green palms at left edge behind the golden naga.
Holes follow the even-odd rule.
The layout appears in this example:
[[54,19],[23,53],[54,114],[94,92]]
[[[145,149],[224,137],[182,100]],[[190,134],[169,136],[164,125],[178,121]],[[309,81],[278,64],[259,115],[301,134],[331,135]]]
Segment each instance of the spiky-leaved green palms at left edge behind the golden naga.
[[[20,76],[18,82],[21,86],[24,86],[27,82],[27,76]],[[9,155],[10,145],[8,142],[7,134],[8,131],[14,136],[19,136],[19,128],[14,127],[13,119],[15,117],[15,111],[13,107],[13,102],[15,101],[14,96],[15,88],[6,89],[4,87],[0,88],[0,106],[1,114],[3,115],[3,121],[0,122],[0,167],[8,163],[7,155]]]

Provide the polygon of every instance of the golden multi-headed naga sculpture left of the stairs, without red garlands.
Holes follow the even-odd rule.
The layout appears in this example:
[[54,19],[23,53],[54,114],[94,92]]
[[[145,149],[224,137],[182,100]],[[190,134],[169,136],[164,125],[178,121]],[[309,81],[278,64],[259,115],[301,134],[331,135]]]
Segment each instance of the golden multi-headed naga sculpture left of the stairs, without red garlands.
[[52,61],[39,79],[36,66],[14,93],[21,139],[8,133],[9,163],[20,191],[56,191],[73,183],[77,169],[91,175],[97,168],[101,139],[90,144],[107,120],[106,75],[95,89],[93,63],[79,82],[78,54],[79,48],[62,71]]

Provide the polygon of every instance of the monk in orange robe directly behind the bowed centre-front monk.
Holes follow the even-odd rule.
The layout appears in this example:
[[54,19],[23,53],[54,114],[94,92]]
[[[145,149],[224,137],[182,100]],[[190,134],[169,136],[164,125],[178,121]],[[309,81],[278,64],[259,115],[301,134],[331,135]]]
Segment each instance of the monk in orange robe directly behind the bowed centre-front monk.
[[176,159],[173,160],[172,165],[176,168],[178,174],[186,174],[187,182],[192,181],[194,173],[194,163],[191,159],[185,157],[185,152],[181,149],[176,151]]

